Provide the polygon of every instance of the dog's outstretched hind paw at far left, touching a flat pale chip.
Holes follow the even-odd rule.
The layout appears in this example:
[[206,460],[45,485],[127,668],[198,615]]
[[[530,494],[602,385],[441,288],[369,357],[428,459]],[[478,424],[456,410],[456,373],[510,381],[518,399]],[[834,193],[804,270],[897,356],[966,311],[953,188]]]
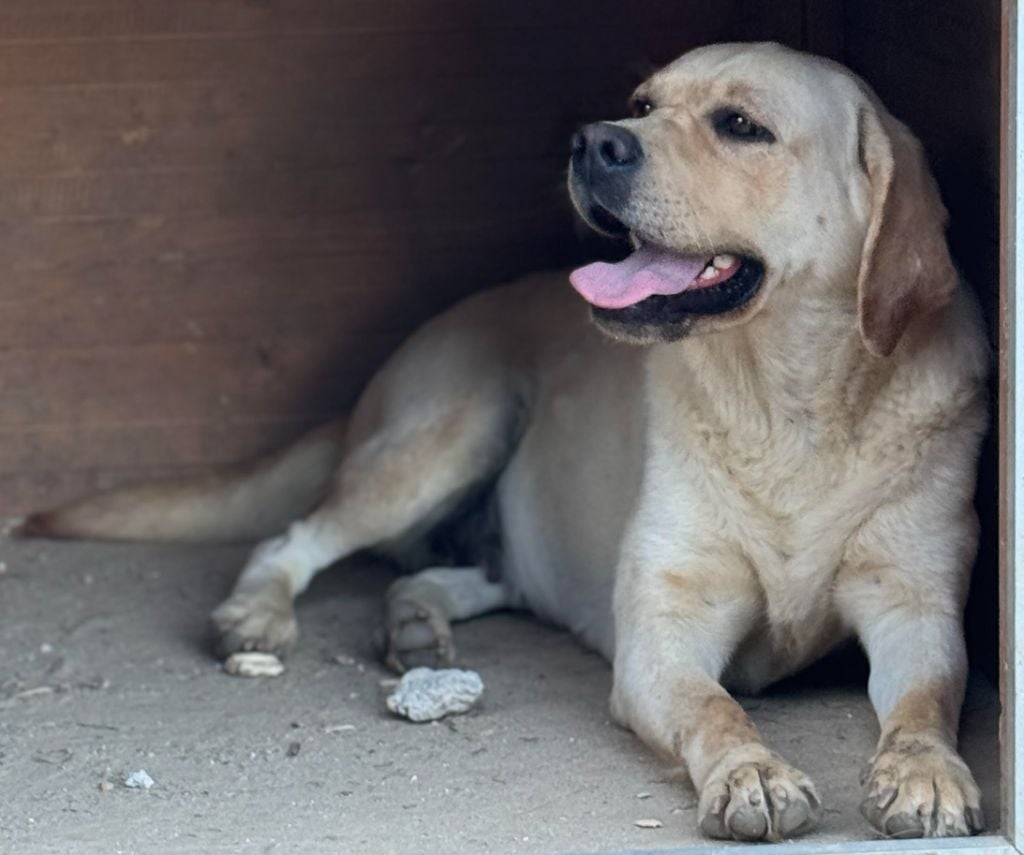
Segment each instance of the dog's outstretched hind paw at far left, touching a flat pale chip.
[[287,584],[268,582],[254,591],[238,591],[210,617],[217,634],[217,652],[224,656],[243,650],[284,655],[299,637]]

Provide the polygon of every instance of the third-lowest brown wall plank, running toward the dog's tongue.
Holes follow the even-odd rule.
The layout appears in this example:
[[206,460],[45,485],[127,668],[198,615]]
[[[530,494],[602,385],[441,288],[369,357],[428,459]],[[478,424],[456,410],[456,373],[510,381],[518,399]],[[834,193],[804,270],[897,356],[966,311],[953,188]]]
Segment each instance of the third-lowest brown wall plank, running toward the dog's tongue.
[[385,253],[22,271],[0,300],[0,352],[401,335],[459,296],[523,272],[524,249],[530,267],[554,266],[531,243],[509,240],[482,260],[428,247],[415,265]]

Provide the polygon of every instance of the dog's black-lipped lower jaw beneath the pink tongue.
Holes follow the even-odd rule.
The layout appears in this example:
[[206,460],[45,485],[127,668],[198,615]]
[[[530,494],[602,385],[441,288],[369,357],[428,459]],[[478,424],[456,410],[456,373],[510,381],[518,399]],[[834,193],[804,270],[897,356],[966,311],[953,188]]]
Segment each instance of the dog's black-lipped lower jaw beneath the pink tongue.
[[[722,258],[722,256],[716,256]],[[595,306],[595,318],[616,326],[664,326],[680,324],[699,315],[725,314],[749,302],[764,279],[764,264],[748,256],[735,256],[735,268],[719,275],[712,284],[692,288],[681,294],[652,294],[639,303],[620,309]],[[715,268],[714,262],[709,266]],[[707,268],[706,268],[707,269]],[[720,270],[720,274],[728,272]]]

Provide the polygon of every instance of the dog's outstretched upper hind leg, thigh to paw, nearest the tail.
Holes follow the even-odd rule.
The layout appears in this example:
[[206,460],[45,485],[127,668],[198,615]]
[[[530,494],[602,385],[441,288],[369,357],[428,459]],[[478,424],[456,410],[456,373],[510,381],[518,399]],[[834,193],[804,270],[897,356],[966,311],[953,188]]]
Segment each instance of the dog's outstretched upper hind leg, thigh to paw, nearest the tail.
[[322,569],[361,549],[439,522],[504,464],[514,412],[495,394],[407,409],[365,432],[321,506],[261,544],[213,612],[219,650],[286,652],[298,627],[293,599]]

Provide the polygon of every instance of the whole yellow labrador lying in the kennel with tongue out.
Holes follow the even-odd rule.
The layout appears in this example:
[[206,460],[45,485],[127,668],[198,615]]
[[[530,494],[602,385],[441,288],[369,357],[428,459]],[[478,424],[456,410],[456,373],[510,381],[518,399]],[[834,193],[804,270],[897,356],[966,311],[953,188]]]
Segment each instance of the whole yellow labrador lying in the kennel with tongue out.
[[[921,147],[849,72],[771,44],[688,53],[633,104],[573,140],[580,214],[634,246],[574,271],[579,294],[549,274],[476,296],[345,425],[25,530],[243,537],[306,513],[214,612],[226,650],[286,649],[293,598],[364,548],[421,570],[388,595],[395,666],[529,608],[613,661],[615,719],[685,763],[715,838],[815,824],[814,785],[727,689],[855,636],[882,725],[865,816],[978,831],[955,742],[987,346]],[[457,558],[424,570],[439,540]]]

